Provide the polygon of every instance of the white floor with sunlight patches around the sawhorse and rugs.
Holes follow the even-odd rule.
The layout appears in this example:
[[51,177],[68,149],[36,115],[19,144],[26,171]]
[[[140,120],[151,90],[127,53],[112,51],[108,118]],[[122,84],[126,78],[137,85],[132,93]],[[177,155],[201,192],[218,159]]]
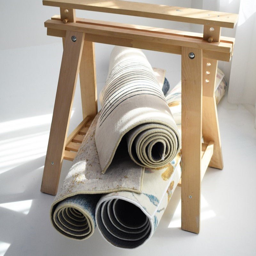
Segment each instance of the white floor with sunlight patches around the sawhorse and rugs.
[[[199,235],[180,229],[180,188],[154,236],[133,251],[107,244],[98,230],[88,240],[74,241],[52,228],[54,197],[41,193],[40,185],[61,51],[61,44],[0,51],[0,256],[256,255],[254,118],[226,97],[218,106],[224,169],[209,168],[204,176]],[[180,57],[147,54],[153,66],[168,68],[174,86],[180,79]],[[98,91],[108,72],[100,57],[96,54]],[[70,130],[81,121],[79,93],[78,87]],[[64,161],[60,185],[70,166]]]

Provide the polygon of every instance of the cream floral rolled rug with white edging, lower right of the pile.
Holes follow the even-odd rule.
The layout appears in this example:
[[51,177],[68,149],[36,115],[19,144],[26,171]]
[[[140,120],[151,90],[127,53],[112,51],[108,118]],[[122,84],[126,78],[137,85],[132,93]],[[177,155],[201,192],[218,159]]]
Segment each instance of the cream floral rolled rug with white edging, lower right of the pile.
[[180,176],[180,153],[161,168],[145,169],[141,194],[120,191],[103,195],[96,206],[96,225],[110,244],[132,249],[154,234]]

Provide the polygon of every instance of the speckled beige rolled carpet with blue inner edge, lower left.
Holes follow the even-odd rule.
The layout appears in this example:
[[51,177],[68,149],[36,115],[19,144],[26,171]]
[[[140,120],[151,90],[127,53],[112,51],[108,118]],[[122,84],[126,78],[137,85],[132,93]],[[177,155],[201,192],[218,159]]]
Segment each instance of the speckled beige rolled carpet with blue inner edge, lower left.
[[101,173],[94,140],[98,117],[99,114],[92,121],[50,210],[53,227],[77,240],[94,232],[100,194],[122,190],[141,193],[142,189],[144,168],[125,159],[127,156],[120,156],[121,161],[114,159],[108,172]]

